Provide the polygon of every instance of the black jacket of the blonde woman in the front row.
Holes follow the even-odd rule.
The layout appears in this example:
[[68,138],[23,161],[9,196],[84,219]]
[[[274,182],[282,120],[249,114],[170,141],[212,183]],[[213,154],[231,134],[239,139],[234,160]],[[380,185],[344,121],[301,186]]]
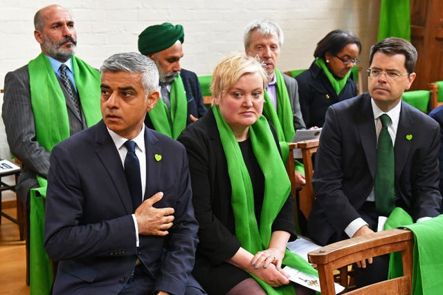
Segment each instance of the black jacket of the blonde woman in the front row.
[[[275,134],[274,137],[278,144]],[[194,270],[198,280],[199,274],[207,274],[210,267],[224,263],[240,247],[240,242],[235,236],[235,220],[230,199],[232,188],[226,155],[212,110],[197,122],[190,124],[177,140],[183,143],[188,153],[192,203],[200,225],[200,242]],[[295,236],[291,195],[273,223],[273,230],[278,229]]]

